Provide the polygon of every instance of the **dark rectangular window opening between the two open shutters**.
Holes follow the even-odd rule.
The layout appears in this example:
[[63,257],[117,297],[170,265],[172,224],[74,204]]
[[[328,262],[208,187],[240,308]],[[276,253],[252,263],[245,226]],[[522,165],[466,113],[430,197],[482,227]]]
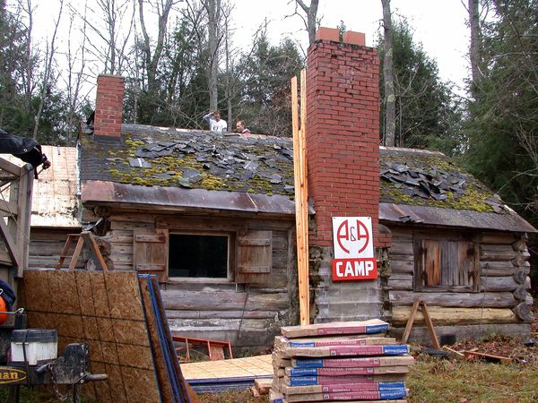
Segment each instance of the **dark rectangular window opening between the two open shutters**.
[[170,234],[169,277],[226,279],[228,236]]

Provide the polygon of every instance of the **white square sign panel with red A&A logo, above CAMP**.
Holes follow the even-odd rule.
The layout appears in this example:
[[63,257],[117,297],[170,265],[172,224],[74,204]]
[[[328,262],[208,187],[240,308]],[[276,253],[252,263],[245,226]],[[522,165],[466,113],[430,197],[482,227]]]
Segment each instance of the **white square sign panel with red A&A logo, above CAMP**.
[[334,257],[373,257],[371,228],[370,217],[333,217]]

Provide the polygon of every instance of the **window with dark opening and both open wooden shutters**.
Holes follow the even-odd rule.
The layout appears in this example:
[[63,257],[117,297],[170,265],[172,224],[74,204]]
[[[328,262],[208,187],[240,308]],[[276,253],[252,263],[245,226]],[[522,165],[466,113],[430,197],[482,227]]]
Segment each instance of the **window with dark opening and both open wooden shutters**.
[[[133,266],[160,282],[187,280],[267,284],[273,267],[272,231],[169,233],[134,228]],[[179,228],[178,228],[179,231]]]

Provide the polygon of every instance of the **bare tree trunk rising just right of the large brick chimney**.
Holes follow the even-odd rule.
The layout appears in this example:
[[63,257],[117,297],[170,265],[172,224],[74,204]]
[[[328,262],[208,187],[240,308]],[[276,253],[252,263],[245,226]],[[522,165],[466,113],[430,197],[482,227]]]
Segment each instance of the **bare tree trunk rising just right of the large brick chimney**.
[[383,62],[383,76],[385,86],[385,136],[384,144],[395,147],[396,131],[396,103],[395,81],[393,77],[393,47],[392,47],[392,18],[390,15],[390,0],[381,0],[383,5],[383,27],[385,54]]

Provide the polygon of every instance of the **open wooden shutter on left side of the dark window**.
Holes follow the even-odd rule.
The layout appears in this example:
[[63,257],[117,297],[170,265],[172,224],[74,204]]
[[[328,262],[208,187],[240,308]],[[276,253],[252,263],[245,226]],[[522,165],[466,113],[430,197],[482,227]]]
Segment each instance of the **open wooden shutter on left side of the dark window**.
[[168,279],[168,262],[168,229],[134,229],[134,270],[141,273],[156,274],[159,282],[165,282]]

